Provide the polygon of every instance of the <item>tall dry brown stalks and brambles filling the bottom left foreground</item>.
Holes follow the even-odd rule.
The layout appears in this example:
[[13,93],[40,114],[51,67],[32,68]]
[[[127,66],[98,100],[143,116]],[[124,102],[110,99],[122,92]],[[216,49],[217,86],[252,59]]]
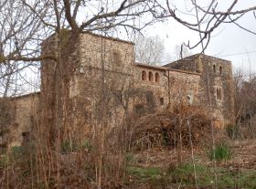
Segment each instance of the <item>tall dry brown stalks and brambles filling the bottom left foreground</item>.
[[123,154],[101,151],[97,143],[92,143],[90,150],[68,153],[39,148],[22,146],[8,153],[9,162],[0,167],[3,188],[96,189],[101,185],[108,189],[123,185]]

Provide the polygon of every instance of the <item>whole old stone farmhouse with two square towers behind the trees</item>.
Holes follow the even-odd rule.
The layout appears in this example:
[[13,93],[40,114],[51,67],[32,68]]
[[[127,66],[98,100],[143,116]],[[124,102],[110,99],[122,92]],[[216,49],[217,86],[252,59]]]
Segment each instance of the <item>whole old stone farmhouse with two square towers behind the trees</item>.
[[[53,38],[43,42],[43,53],[54,46]],[[77,131],[73,132],[74,137],[93,132],[92,125],[101,118],[102,109],[111,128],[121,125],[123,115],[132,110],[144,114],[177,103],[211,111],[218,127],[234,122],[232,68],[228,60],[197,54],[164,66],[149,66],[135,62],[132,42],[91,33],[80,33],[72,59],[76,68],[70,71],[69,125]],[[42,61],[40,94],[14,99],[16,128],[19,128],[13,134],[16,145],[37,123],[39,101],[48,98],[55,66],[53,60]],[[48,110],[45,119],[51,119],[53,113]]]

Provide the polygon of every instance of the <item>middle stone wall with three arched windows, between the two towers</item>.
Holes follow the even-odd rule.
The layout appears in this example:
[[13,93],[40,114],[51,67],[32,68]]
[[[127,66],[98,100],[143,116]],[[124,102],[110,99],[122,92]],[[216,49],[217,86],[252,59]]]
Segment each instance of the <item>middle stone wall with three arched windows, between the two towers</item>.
[[[146,79],[143,79],[143,72],[146,73]],[[152,81],[149,80],[150,72],[153,73]],[[156,73],[159,74],[157,82],[155,81]],[[198,104],[200,74],[137,64],[133,75],[135,88],[154,92],[157,109],[173,107],[178,103]],[[140,101],[138,100],[137,103]]]

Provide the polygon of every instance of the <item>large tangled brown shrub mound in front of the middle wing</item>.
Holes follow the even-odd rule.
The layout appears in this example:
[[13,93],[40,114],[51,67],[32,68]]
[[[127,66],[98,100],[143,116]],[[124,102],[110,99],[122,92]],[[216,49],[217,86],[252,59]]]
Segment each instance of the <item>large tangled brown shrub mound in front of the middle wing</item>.
[[[195,147],[211,142],[211,124],[208,115],[197,107],[176,106],[173,110],[164,110],[141,117],[134,121],[131,128],[131,146],[134,150],[147,148],[176,148],[181,138],[183,147]],[[227,139],[222,131],[214,128],[214,137],[219,141]]]

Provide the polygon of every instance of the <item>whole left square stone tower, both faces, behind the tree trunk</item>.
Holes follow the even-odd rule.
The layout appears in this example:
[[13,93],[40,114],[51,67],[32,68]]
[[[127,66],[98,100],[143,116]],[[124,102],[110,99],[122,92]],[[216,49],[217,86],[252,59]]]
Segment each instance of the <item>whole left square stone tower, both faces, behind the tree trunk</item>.
[[[43,55],[57,51],[57,43],[57,37],[48,37],[42,44]],[[103,128],[122,121],[117,96],[133,82],[134,51],[132,42],[88,32],[79,34],[74,47],[69,67],[58,69],[57,61],[42,61],[40,104],[46,125],[59,119],[56,127],[62,125],[63,133],[78,139],[93,134],[93,129],[95,133],[92,125]],[[49,132],[55,133],[50,138],[56,137],[56,131]]]

